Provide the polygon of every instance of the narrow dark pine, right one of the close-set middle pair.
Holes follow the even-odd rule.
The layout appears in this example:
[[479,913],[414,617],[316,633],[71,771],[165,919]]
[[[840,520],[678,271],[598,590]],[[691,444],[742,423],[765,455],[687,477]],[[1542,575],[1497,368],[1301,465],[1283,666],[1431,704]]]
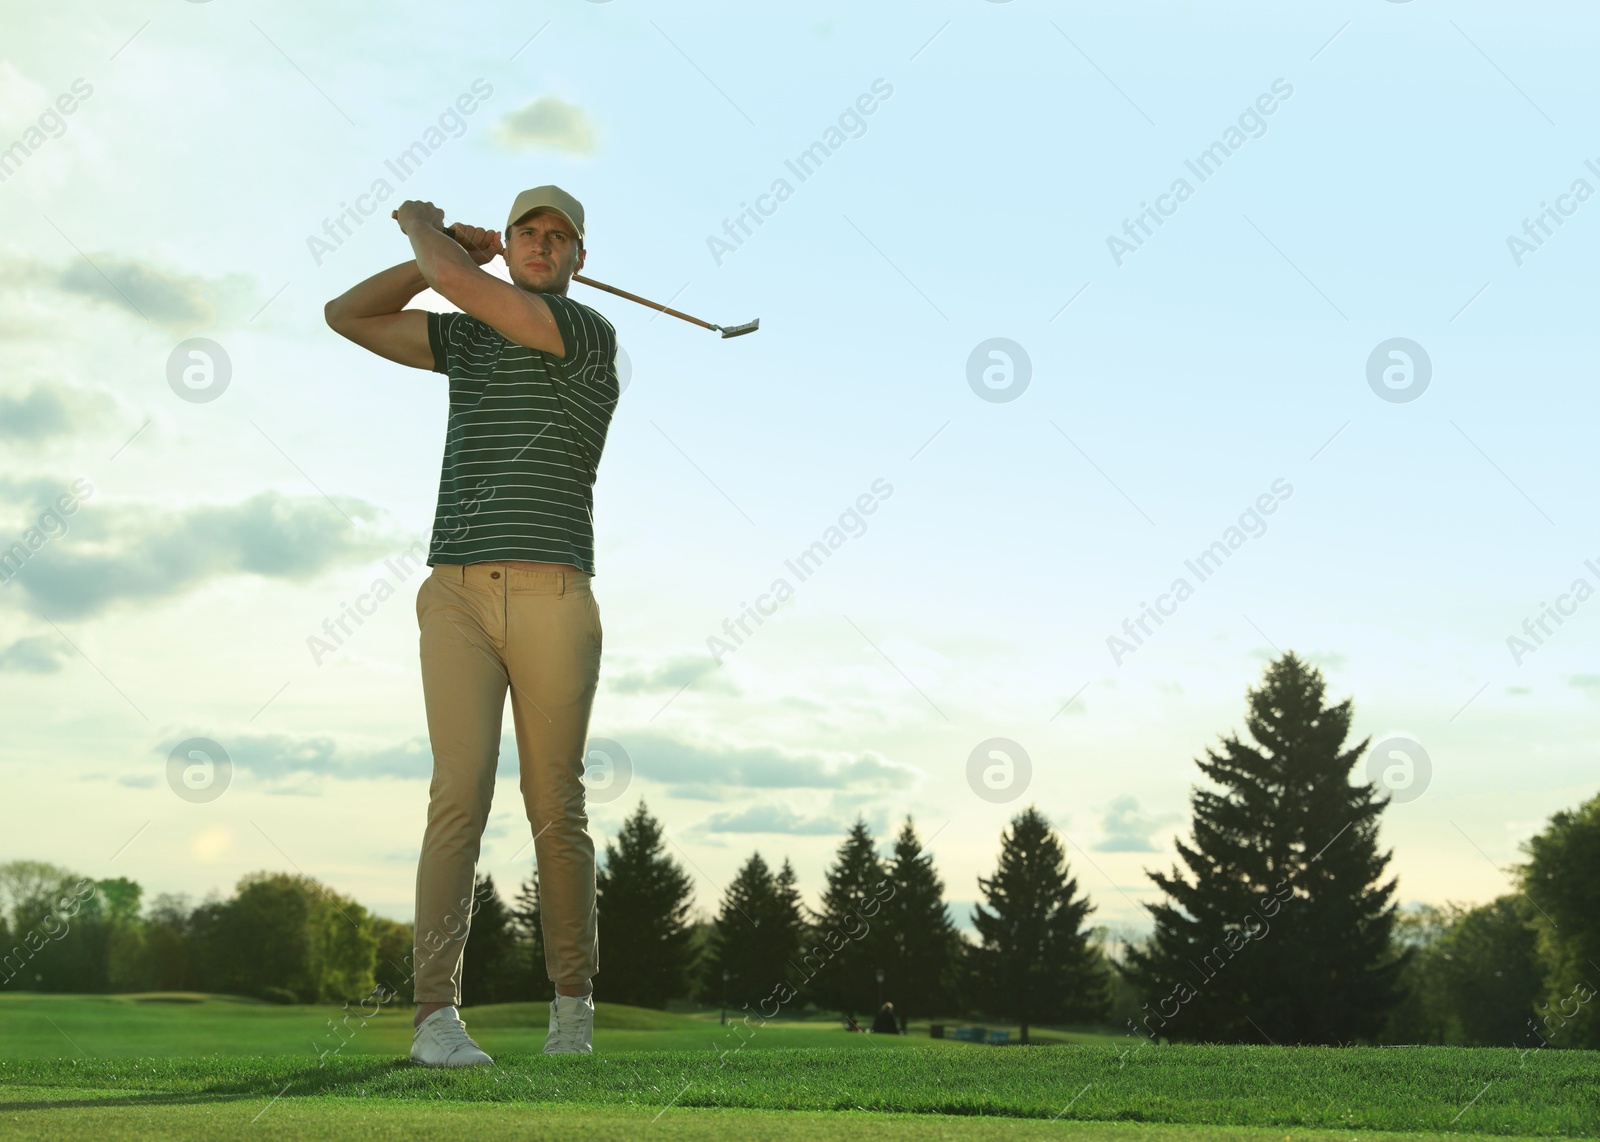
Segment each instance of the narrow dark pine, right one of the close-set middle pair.
[[883,995],[902,1019],[952,1011],[962,937],[944,907],[944,881],[910,817],[894,838],[886,872],[894,896],[883,905],[891,948]]

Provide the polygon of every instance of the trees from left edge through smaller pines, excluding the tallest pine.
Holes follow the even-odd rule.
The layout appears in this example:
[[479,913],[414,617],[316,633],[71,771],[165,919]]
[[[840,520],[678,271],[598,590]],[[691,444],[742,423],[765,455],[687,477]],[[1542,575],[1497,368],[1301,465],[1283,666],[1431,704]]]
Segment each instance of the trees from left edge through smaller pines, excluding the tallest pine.
[[[962,939],[944,883],[907,819],[885,859],[856,822],[827,872],[821,908],[794,867],[755,853],[710,923],[693,920],[693,884],[645,805],[606,845],[598,872],[603,961],[613,1003],[698,998],[773,1017],[806,1004],[848,1016],[894,1000],[902,1017],[982,1011],[1029,1022],[1102,1020],[1110,964],[1085,926],[1091,905],[1067,875],[1061,838],[1029,808],[981,878],[981,940]],[[130,880],[0,865],[0,985],[40,992],[203,990],[285,1003],[331,1003],[374,987],[408,995],[411,926],[370,913],[315,880],[253,873],[229,900],[190,908],[162,896],[141,912]],[[491,876],[462,969],[467,1004],[547,998],[538,878],[510,902]]]

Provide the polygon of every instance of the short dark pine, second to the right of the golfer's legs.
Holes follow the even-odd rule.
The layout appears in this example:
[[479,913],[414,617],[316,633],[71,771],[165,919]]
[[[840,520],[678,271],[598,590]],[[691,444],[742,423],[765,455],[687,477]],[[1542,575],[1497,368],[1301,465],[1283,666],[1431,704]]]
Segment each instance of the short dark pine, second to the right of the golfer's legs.
[[803,932],[794,868],[784,860],[774,876],[762,854],[752,854],[723,892],[701,977],[701,1001],[765,1011],[771,1017],[771,1003],[781,1003],[786,993],[779,987],[792,985],[790,961],[800,952]]

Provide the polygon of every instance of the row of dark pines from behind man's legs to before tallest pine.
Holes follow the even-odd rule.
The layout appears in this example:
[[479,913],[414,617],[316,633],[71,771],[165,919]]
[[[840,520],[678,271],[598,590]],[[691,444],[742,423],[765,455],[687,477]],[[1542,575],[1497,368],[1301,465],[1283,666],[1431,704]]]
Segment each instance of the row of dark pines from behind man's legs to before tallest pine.
[[[962,1011],[1030,1022],[1098,1022],[1112,969],[1093,910],[1067,875],[1066,851],[1035,808],[1002,837],[979,878],[979,939],[949,915],[944,883],[906,819],[886,857],[858,821],[808,908],[794,867],[754,853],[710,923],[693,920],[693,881],[667,853],[642,803],[605,848],[598,872],[602,960],[597,988],[613,1003],[661,1008],[694,998],[752,1016],[805,1004],[858,1016],[891,1000],[904,1019]],[[467,1003],[542,998],[544,944],[536,876],[510,905],[490,876],[477,888],[464,963]]]

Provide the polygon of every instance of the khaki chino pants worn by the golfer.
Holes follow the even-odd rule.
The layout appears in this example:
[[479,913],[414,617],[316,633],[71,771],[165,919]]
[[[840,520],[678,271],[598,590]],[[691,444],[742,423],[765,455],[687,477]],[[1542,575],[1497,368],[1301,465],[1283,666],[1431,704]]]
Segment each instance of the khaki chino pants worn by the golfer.
[[507,688],[534,837],[546,971],[555,984],[582,985],[600,966],[595,846],[582,784],[602,638],[590,576],[576,568],[442,563],[418,589],[416,619],[434,749],[416,867],[416,1003],[461,1003]]

